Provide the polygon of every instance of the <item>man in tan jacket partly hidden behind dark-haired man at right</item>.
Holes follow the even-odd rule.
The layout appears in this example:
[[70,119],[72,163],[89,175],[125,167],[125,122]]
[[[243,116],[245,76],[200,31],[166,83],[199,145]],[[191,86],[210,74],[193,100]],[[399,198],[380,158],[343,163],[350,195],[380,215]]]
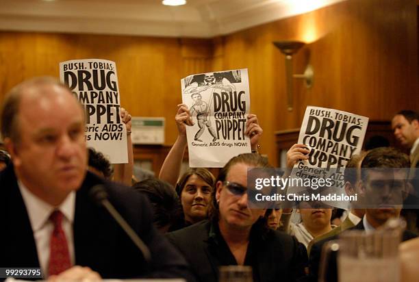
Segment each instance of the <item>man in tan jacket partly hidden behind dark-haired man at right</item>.
[[[361,161],[366,155],[366,152],[363,152],[359,155],[353,155],[351,159],[349,159],[348,164],[346,164],[346,168],[344,171],[344,181],[345,181],[345,191],[348,195],[354,195],[354,194],[360,194],[359,191],[357,191],[357,181],[361,178],[360,176],[360,168],[361,168]],[[331,231],[319,235],[316,238],[314,238],[311,242],[309,242],[307,246],[307,253],[310,255],[310,251],[312,249],[313,244],[320,240],[325,240],[326,238],[338,235],[342,231],[355,227],[357,225],[362,217],[365,214],[365,209],[363,207],[357,206],[357,203],[352,203],[351,209],[348,212],[348,216],[344,219],[344,221],[338,225],[338,227],[335,227],[331,229]]]

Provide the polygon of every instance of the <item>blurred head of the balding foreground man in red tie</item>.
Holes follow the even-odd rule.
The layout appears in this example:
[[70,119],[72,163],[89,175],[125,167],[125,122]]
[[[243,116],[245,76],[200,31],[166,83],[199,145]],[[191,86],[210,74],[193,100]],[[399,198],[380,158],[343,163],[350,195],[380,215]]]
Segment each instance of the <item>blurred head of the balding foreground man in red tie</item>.
[[51,85],[25,90],[19,109],[21,140],[6,143],[16,175],[43,201],[59,205],[86,174],[84,113],[68,90]]

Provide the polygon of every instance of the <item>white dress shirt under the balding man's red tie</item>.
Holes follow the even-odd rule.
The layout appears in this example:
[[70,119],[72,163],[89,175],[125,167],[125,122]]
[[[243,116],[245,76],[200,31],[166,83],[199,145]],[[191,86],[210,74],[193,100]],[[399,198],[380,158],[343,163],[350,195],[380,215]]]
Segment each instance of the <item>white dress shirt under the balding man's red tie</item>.
[[18,181],[19,190],[21,190],[23,202],[25,203],[29,221],[31,222],[32,231],[36,243],[36,251],[38,252],[38,260],[44,278],[48,277],[49,265],[49,242],[51,234],[54,229],[53,222],[49,220],[51,213],[58,209],[62,212],[62,229],[66,233],[66,240],[68,244],[68,252],[70,253],[70,261],[75,264],[75,251],[73,240],[73,222],[75,212],[75,191],[68,194],[66,199],[59,207],[53,207],[45,201],[42,201],[38,196],[30,192],[21,181]]

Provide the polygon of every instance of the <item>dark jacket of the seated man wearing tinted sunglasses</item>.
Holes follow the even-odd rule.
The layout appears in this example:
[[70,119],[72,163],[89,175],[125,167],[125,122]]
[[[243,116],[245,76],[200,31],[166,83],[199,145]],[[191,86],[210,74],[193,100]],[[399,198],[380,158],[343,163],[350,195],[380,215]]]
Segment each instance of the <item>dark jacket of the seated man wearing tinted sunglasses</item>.
[[[210,235],[212,229],[212,222],[204,220],[167,234],[169,241],[183,253],[196,278],[201,282],[218,281],[218,267],[225,261],[225,257],[222,257],[225,250],[223,252],[220,249],[228,248],[219,234],[218,227],[216,236]],[[304,268],[307,266],[307,253],[305,247],[295,238],[280,231],[270,230],[263,236],[251,235],[251,240],[257,241],[253,244],[251,253],[254,282],[306,279]],[[252,242],[249,246],[251,244]],[[232,256],[229,250],[227,254]]]

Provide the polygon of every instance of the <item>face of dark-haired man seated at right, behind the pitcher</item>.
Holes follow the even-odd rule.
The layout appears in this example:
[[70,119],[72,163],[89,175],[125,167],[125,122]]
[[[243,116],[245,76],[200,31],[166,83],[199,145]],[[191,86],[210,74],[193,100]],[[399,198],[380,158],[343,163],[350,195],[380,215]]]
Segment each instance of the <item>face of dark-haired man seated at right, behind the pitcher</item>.
[[374,207],[366,209],[367,218],[383,225],[389,218],[400,216],[407,172],[403,169],[388,168],[383,172],[367,173],[367,179],[364,181],[365,198],[368,205]]

